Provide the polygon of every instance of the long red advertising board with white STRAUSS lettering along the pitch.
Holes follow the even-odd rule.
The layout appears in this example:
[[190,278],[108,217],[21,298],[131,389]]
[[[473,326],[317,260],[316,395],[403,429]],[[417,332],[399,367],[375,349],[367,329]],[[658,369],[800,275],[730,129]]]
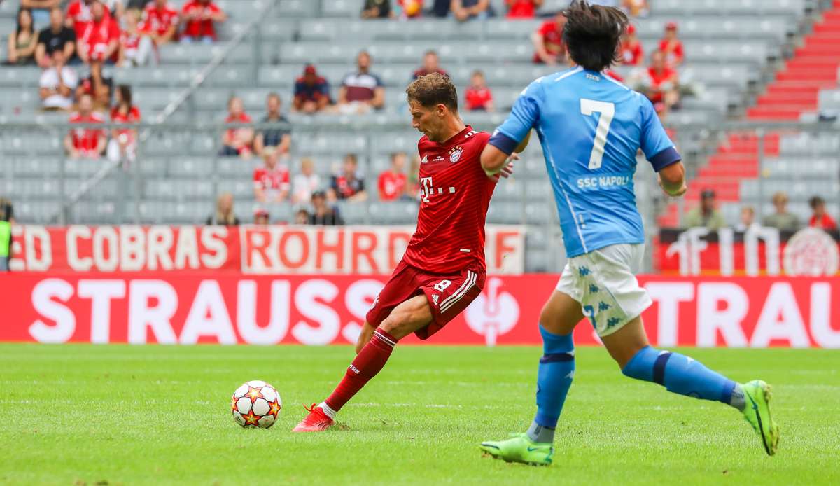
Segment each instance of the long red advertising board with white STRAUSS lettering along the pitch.
[[[430,342],[540,343],[539,312],[557,277],[488,277],[480,297]],[[639,280],[654,300],[643,319],[656,346],[840,347],[840,278]],[[358,275],[5,274],[0,341],[351,343],[384,282]],[[577,326],[575,343],[597,342],[588,322]]]

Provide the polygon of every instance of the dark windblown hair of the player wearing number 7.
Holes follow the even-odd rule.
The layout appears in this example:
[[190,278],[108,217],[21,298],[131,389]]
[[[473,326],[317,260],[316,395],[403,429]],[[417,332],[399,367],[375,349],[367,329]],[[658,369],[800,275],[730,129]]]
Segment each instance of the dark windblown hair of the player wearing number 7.
[[575,0],[564,15],[563,41],[572,61],[590,71],[603,71],[621,59],[617,47],[629,24],[625,13]]

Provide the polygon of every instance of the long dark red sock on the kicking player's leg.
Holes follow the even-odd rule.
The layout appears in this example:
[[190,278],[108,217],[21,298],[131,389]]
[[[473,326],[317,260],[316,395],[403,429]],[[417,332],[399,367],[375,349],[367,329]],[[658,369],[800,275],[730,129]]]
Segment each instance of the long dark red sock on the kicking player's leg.
[[376,373],[385,366],[394,346],[396,346],[394,336],[377,328],[373,337],[347,368],[347,373],[339,386],[328,399],[324,400],[329,408],[338,412],[355,394],[359,393],[365,383],[368,383],[370,378],[375,377]]

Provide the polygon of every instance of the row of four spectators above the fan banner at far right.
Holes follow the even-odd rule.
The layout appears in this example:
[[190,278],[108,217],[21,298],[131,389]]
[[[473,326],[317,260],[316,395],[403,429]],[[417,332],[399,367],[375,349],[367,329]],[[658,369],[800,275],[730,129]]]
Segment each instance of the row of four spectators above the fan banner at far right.
[[[787,209],[787,194],[774,193],[771,202],[774,212],[764,216],[761,221],[762,226],[791,233],[801,229],[799,218]],[[814,196],[808,201],[808,205],[811,207],[811,218],[808,219],[807,226],[827,231],[837,230],[837,221],[826,211],[825,199]],[[686,228],[703,227],[713,231],[728,226],[723,214],[717,209],[717,199],[712,189],[706,188],[701,192],[700,205],[685,214],[683,226]],[[755,220],[755,209],[752,206],[743,206],[738,222],[732,227],[736,231],[747,231],[756,226],[759,226],[759,223]]]

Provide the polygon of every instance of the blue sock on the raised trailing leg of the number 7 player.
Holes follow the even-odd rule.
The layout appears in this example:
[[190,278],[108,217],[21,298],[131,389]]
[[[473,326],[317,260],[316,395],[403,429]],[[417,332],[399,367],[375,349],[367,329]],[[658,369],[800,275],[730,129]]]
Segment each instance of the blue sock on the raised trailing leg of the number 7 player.
[[738,397],[732,394],[740,390],[738,383],[678,352],[644,346],[627,362],[622,373],[630,378],[659,383],[675,394],[715,400],[739,408],[735,403]]

